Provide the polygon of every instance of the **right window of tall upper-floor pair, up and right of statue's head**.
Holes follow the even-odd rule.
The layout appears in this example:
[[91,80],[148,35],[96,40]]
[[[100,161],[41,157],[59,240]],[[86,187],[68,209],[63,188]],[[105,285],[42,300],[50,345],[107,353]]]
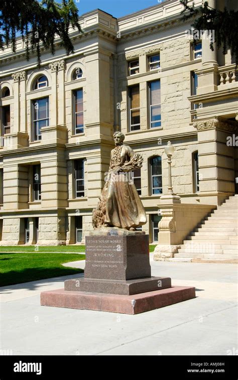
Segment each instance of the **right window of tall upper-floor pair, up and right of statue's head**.
[[150,126],[157,128],[161,126],[161,100],[160,100],[160,80],[149,83],[150,95]]

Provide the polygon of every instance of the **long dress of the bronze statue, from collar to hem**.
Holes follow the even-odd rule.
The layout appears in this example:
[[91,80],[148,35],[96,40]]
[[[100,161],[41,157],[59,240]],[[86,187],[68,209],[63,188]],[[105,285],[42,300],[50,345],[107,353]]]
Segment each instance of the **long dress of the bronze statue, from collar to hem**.
[[110,226],[130,229],[146,224],[146,212],[131,170],[120,171],[134,156],[134,151],[127,145],[116,146],[111,151],[104,219],[104,223]]

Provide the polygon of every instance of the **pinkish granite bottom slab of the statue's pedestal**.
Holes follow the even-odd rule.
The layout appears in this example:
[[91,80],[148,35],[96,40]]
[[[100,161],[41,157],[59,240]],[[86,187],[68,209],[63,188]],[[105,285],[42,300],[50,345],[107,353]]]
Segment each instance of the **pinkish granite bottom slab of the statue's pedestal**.
[[42,292],[41,305],[111,313],[140,314],[195,297],[195,288],[182,286],[174,286],[169,289],[133,296],[74,292],[60,289]]

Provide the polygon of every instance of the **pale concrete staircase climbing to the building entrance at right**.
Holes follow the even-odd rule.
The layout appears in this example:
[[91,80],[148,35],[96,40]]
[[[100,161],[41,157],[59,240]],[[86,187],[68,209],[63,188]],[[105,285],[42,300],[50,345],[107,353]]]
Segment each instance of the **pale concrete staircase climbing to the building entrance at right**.
[[229,197],[184,240],[170,261],[238,260],[238,194]]

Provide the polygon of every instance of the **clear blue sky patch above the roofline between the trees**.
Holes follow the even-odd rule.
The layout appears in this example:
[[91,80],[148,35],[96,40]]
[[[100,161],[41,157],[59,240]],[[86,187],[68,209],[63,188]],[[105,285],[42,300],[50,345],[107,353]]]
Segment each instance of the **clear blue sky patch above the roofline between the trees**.
[[110,15],[118,18],[140,11],[142,9],[158,5],[162,0],[74,0],[78,9],[79,16],[101,9]]

